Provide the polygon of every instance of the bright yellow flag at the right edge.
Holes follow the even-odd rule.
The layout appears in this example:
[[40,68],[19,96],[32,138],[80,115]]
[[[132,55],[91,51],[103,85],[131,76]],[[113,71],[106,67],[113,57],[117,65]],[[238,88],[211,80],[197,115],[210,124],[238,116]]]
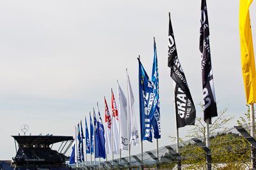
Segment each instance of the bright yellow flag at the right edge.
[[239,32],[242,71],[247,104],[256,103],[256,73],[249,8],[253,0],[240,0]]

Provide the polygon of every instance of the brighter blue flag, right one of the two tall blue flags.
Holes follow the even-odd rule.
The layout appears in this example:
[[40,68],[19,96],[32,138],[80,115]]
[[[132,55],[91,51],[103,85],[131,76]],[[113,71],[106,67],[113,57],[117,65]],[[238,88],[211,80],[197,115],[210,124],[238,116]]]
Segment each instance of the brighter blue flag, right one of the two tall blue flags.
[[158,78],[158,66],[157,66],[157,51],[156,41],[154,38],[154,60],[152,68],[152,83],[154,84],[154,105],[152,115],[152,127],[154,129],[154,138],[161,138],[161,126],[160,126],[160,104],[159,104],[159,78]]

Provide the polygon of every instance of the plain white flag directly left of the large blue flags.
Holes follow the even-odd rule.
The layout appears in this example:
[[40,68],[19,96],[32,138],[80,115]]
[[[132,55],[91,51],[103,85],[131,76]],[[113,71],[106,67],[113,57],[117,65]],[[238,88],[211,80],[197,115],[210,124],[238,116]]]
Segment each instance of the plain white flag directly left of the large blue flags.
[[128,108],[128,117],[129,117],[129,136],[130,136],[130,144],[133,144],[134,146],[137,146],[139,143],[139,135],[138,135],[138,128],[136,123],[136,117],[135,117],[135,111],[134,111],[134,96],[132,93],[132,87],[128,75],[128,71],[126,69],[126,81],[127,81],[127,108]]

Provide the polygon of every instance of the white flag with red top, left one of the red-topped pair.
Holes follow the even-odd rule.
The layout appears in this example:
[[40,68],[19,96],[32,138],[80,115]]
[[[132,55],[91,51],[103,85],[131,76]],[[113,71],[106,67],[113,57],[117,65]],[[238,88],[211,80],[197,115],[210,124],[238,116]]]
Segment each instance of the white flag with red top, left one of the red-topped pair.
[[111,116],[109,114],[108,110],[108,104],[107,101],[104,97],[105,101],[105,125],[106,125],[106,150],[107,153],[112,153],[111,152]]

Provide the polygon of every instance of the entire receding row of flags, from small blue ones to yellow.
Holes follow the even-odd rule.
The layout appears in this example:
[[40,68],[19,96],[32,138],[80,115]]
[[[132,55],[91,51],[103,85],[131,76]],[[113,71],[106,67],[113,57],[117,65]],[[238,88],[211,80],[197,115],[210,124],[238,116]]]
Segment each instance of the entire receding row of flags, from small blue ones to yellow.
[[[255,62],[252,48],[252,33],[250,31],[249,7],[252,0],[246,2],[240,1],[239,27],[241,32],[241,55],[242,69],[244,75],[244,85],[246,89],[246,99],[248,103],[255,102],[253,93],[256,90],[255,81]],[[245,11],[245,12],[244,12]],[[200,43],[202,66],[202,91],[204,98],[204,120],[217,117],[216,97],[214,92],[214,82],[211,66],[211,50],[209,45],[209,21],[207,15],[206,1],[201,4],[201,26]],[[249,63],[249,64],[248,64]],[[155,139],[161,138],[160,124],[160,106],[159,106],[159,73],[157,66],[156,41],[154,39],[154,60],[152,66],[151,80],[148,77],[145,68],[138,58],[139,64],[139,92],[140,92],[140,135],[141,141],[152,142],[153,134]],[[189,91],[188,81],[181,67],[177,46],[172,29],[172,22],[169,13],[169,32],[168,32],[168,67],[170,67],[170,76],[173,79],[174,101],[177,128],[186,125],[195,125],[196,109],[191,93]],[[248,71],[248,67],[251,69]],[[250,72],[251,71],[251,72]],[[90,114],[90,134],[85,118],[85,138],[83,135],[82,122],[76,127],[74,135],[74,144],[70,164],[84,161],[83,139],[85,139],[86,153],[95,157],[106,158],[106,153],[119,154],[120,150],[128,150],[128,145],[138,145],[138,127],[136,124],[136,115],[134,112],[134,96],[131,89],[128,72],[127,80],[127,98],[120,85],[117,82],[118,104],[116,104],[113,90],[111,89],[111,113],[109,112],[107,101],[104,97],[105,106],[105,126],[100,117],[99,107],[97,114],[93,108],[93,122]],[[106,145],[105,145],[106,143]]]

